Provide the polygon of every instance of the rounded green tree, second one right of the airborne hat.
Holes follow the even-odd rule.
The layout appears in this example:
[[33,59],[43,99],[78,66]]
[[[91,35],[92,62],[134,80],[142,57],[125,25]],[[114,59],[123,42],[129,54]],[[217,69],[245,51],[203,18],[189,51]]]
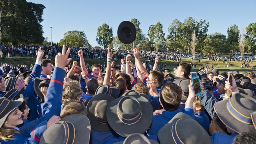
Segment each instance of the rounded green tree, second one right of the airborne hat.
[[156,47],[156,52],[158,52],[158,48],[166,48],[163,47],[165,44],[165,33],[163,33],[163,25],[158,22],[156,25],[150,25],[148,30],[148,36],[150,41]]

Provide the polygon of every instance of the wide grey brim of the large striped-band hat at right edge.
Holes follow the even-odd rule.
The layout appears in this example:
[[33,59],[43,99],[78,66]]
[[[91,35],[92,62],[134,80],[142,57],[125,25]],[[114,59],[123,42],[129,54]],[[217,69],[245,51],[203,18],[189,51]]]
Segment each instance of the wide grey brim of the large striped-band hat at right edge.
[[214,104],[214,110],[219,117],[219,119],[225,124],[227,127],[236,131],[237,133],[242,133],[245,131],[255,131],[254,126],[252,124],[244,124],[239,122],[236,118],[234,118],[227,109],[227,103],[229,100],[221,100]]

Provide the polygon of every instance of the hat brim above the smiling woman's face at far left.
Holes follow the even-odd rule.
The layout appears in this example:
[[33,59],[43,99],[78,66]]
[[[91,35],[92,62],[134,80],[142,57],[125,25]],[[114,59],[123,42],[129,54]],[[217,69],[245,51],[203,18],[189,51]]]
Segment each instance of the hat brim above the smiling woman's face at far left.
[[18,100],[10,101],[10,103],[8,104],[9,107],[6,107],[6,111],[8,110],[9,112],[3,118],[0,119],[0,128],[3,126],[4,122],[6,121],[7,117],[9,116],[9,114],[14,109],[19,107],[22,104],[23,100],[24,100],[23,98],[19,98]]

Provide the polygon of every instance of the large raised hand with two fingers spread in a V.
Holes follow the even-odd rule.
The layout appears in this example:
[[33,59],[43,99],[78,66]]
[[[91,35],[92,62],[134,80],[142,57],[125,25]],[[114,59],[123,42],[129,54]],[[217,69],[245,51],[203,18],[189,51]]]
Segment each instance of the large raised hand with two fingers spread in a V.
[[68,48],[66,52],[66,46],[63,44],[62,47],[62,53],[58,53],[55,57],[55,66],[58,68],[62,68],[64,70],[64,67],[69,64],[69,62],[72,60],[69,57],[70,48]]

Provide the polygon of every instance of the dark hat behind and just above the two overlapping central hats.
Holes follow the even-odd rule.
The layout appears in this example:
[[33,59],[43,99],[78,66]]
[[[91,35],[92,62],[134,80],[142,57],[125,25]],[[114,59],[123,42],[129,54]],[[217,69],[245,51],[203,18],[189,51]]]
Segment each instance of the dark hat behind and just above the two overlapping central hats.
[[120,90],[118,89],[118,87],[109,87],[109,85],[100,85],[95,91],[95,95],[97,94],[108,94],[113,98],[118,98],[120,94]]

